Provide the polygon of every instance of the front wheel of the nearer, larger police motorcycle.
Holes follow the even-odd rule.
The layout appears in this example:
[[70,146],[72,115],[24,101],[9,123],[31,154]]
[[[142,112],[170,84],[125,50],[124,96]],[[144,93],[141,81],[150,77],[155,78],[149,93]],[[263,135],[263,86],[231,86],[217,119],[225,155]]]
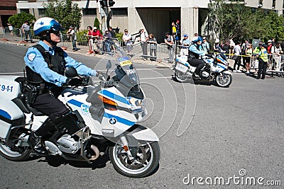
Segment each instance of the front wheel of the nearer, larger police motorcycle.
[[160,161],[160,147],[158,142],[138,144],[129,147],[133,159],[129,159],[124,148],[116,144],[109,148],[109,156],[114,169],[121,175],[131,178],[143,178],[158,170]]

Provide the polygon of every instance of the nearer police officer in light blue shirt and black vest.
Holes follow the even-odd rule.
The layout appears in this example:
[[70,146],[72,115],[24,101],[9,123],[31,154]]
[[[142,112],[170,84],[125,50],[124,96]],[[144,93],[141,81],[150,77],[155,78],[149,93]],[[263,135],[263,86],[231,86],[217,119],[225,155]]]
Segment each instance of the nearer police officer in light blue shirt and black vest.
[[[84,76],[97,76],[99,72],[72,59],[62,48],[56,46],[61,41],[60,31],[65,29],[55,19],[39,18],[35,21],[33,30],[34,34],[40,37],[40,41],[38,45],[30,47],[24,57],[28,84],[38,88],[34,98],[30,99],[33,101],[30,105],[48,115],[48,119],[38,130],[31,132],[28,144],[33,151],[44,155],[48,151],[43,147],[41,138],[54,130],[55,125],[71,116],[70,110],[57,98],[62,91],[62,84],[68,82],[64,76],[65,69],[74,67],[78,74]],[[77,81],[80,81],[79,77]],[[74,114],[72,116],[74,117]]]

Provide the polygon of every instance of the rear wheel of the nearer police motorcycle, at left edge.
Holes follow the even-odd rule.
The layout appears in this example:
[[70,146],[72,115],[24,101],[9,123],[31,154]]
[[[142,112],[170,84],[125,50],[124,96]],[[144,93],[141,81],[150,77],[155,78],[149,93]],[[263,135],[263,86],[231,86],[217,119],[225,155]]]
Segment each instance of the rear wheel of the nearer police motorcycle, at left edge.
[[22,147],[21,149],[13,150],[4,144],[0,143],[0,155],[10,161],[26,161],[30,158],[30,149]]

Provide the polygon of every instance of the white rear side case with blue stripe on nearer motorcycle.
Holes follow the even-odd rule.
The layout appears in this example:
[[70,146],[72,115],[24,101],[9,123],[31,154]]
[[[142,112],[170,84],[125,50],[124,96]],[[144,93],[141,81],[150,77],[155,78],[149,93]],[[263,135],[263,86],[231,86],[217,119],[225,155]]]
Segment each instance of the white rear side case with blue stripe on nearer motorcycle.
[[23,112],[12,101],[0,97],[0,138],[6,139],[12,125],[21,124]]

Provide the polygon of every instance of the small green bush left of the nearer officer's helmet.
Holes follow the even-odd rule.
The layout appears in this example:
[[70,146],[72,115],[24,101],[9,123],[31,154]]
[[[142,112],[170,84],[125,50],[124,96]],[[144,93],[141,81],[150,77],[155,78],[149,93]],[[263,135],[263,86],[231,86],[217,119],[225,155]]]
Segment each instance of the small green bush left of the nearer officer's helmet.
[[28,23],[33,23],[35,21],[35,16],[33,16],[31,13],[17,13],[13,16],[10,16],[8,18],[9,23],[13,25],[13,28],[21,28],[23,23],[28,21]]

